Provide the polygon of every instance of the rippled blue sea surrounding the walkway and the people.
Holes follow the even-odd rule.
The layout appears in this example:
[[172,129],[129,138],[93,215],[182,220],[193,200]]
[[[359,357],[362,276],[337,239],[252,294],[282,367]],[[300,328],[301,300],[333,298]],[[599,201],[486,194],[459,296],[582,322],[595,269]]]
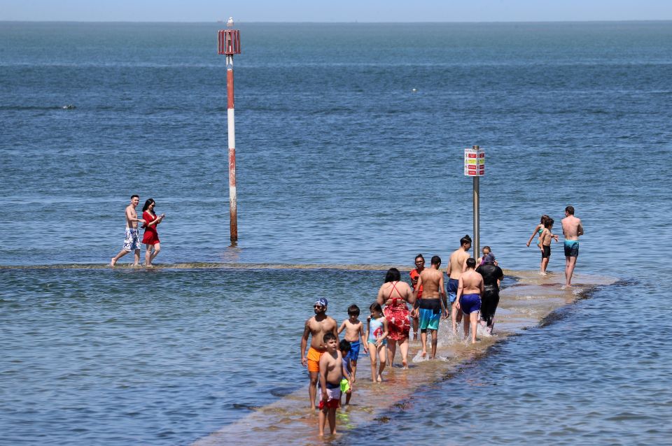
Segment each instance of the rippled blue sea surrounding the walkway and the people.
[[[240,23],[236,244],[221,27],[0,22],[0,444],[188,445],[304,387],[316,298],[473,235],[472,145],[501,266],[571,205],[615,283],[333,441],[672,443],[672,22]],[[132,194],[151,270],[105,267]]]

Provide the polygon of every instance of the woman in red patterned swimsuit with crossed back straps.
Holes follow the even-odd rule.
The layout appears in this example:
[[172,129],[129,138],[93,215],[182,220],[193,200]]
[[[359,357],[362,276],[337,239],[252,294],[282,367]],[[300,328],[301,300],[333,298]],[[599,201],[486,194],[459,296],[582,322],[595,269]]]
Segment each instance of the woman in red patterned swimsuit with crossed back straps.
[[387,348],[390,366],[394,363],[394,354],[397,351],[397,343],[401,350],[401,364],[408,368],[408,332],[411,329],[409,311],[406,303],[413,305],[415,298],[411,287],[406,282],[401,282],[401,274],[397,268],[390,268],[385,275],[385,283],[378,290],[376,301],[380,305],[386,305],[383,314],[387,319],[389,334],[387,336]]

